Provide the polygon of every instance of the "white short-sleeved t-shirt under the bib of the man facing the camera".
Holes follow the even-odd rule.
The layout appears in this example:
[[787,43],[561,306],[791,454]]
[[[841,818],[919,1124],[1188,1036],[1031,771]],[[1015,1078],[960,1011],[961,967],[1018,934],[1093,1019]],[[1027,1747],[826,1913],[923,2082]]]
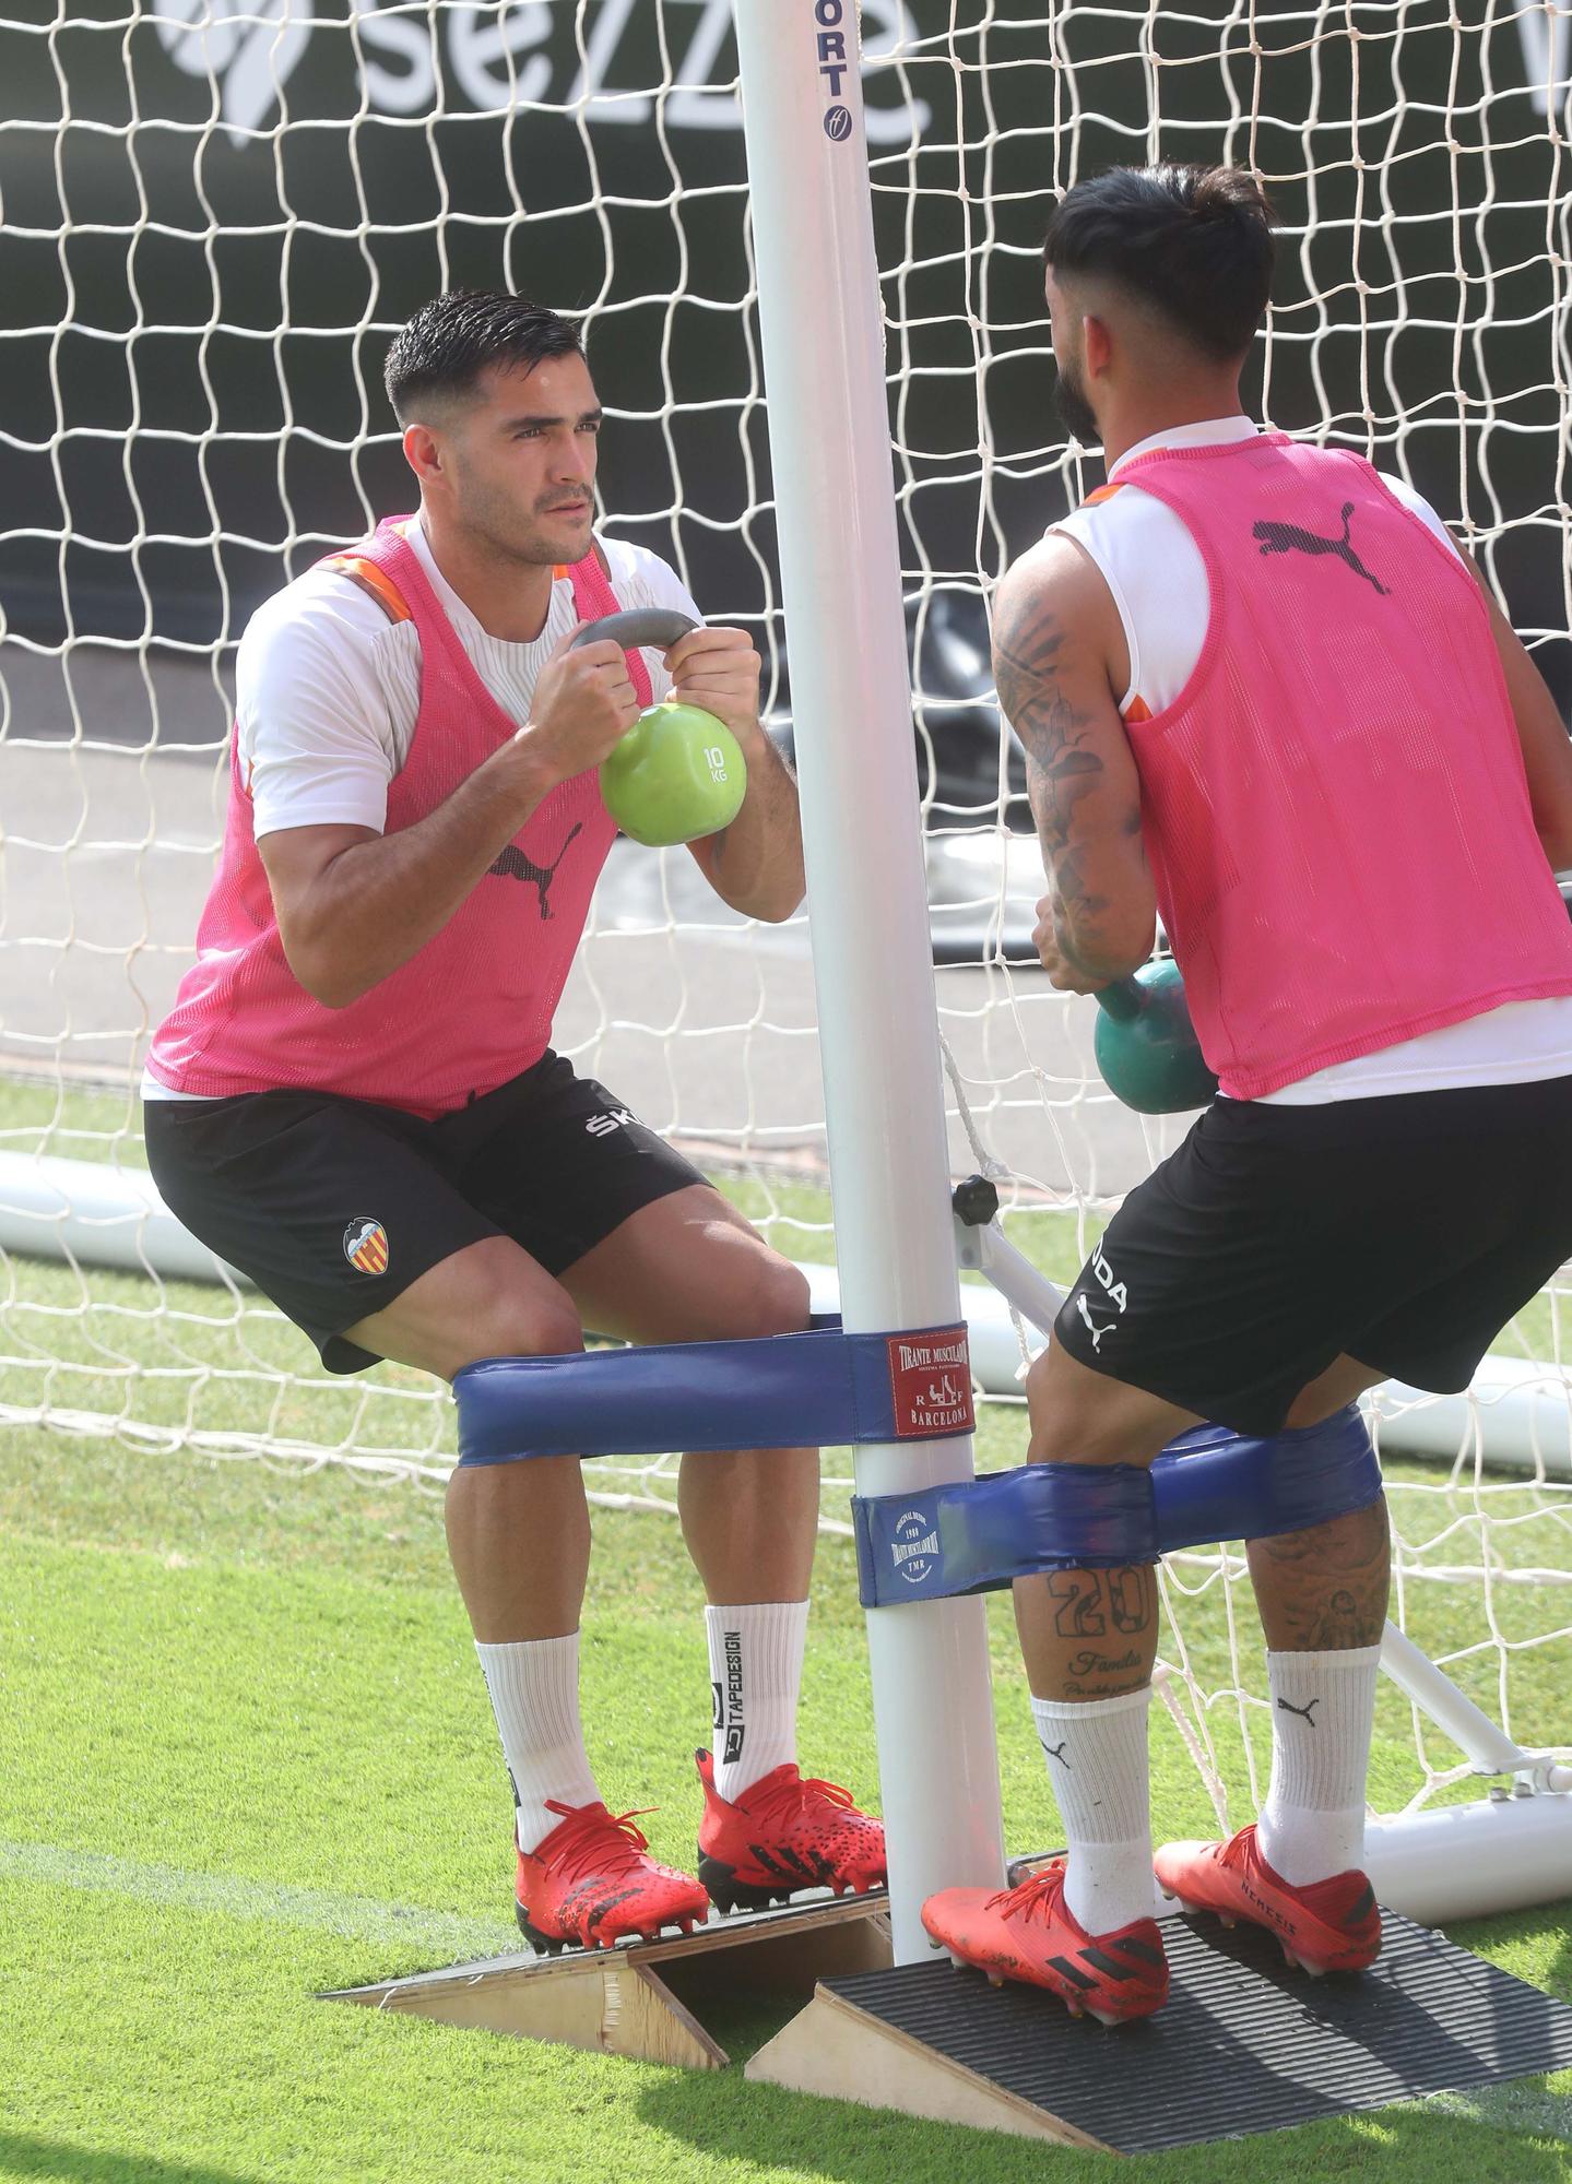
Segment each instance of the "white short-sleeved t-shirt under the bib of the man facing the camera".
[[[489,636],[432,559],[426,531],[406,537],[437,601],[502,712],[528,721],[535,677],[576,622],[572,583],[552,583],[546,627],[533,644]],[[675,607],[703,620],[677,572],[659,555],[622,539],[600,539],[620,607]],[[655,701],[670,690],[659,653],[646,651]],[[365,826],[382,832],[386,793],[404,767],[419,716],[419,636],[393,622],[352,577],[308,568],[264,601],[247,622],[236,655],[240,769],[251,791],[253,828]],[[144,1099],[199,1099],[142,1077]]]

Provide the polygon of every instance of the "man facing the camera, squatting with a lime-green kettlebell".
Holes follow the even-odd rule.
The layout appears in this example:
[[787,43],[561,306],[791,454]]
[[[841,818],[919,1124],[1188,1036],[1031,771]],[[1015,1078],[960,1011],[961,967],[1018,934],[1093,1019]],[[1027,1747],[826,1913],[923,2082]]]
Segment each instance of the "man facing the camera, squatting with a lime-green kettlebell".
[[[568,321],[441,295],[393,341],[386,391],[419,513],[286,585],[240,642],[223,858],[144,1081],[159,1190],[330,1372],[395,1358],[452,1380],[579,1350],[585,1326],[797,1332],[801,1275],[550,1051],[616,834],[596,769],[653,697],[716,714],[747,758],[740,812],[690,845],[699,869],[751,917],[799,906],[758,653],[740,629],[664,657],[570,649],[618,605],[699,609],[655,555],[592,533],[600,404]],[[648,1859],[585,1756],[579,1459],[465,1468],[448,1492],[539,1948],[884,1878],[878,1824],[797,1769],[817,1450],[688,1457],[679,1503],[718,1732],[701,1880]]]

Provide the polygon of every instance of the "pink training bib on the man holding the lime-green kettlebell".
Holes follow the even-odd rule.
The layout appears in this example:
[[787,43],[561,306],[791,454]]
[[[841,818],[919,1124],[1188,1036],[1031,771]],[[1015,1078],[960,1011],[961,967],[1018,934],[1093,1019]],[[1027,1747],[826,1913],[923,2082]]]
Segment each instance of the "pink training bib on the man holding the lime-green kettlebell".
[[[419,636],[419,714],[408,758],[389,784],[389,834],[437,810],[517,729],[404,539],[400,524],[408,520],[386,518],[371,539],[327,557],[389,614],[410,618]],[[568,577],[581,620],[616,612],[594,550]],[[651,679],[638,653],[629,653],[629,675],[648,705]],[[544,1055],[614,836],[598,773],[561,782],[441,933],[360,1000],[327,1009],[284,957],[231,740],[225,841],[196,928],[196,963],[153,1040],[148,1070],[175,1092],[210,1099],[310,1088],[426,1116],[463,1107]]]

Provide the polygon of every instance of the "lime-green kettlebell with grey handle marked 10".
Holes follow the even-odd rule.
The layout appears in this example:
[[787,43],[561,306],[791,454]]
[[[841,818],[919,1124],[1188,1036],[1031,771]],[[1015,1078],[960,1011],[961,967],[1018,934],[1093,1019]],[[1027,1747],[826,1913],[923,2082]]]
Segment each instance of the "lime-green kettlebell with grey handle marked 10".
[[[574,638],[598,644],[611,638],[622,651],[640,644],[666,651],[699,625],[675,607],[631,607],[605,614]],[[736,736],[699,705],[666,697],[646,705],[622,740],[600,760],[600,802],[616,823],[646,850],[701,841],[731,826],[747,795],[747,764]]]

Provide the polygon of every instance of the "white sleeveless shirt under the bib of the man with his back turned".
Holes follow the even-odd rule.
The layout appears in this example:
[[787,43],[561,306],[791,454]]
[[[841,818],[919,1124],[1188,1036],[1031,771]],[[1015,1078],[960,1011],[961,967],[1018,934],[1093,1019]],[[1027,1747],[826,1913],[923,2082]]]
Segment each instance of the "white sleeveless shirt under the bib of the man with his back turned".
[[[1138,454],[1157,448],[1225,448],[1253,439],[1249,417],[1214,417],[1175,426],[1129,448],[1109,472],[1109,485]],[[1452,535],[1404,478],[1382,472],[1382,485],[1456,553]],[[1114,594],[1124,644],[1129,688],[1120,701],[1127,719],[1146,719],[1172,705],[1190,681],[1205,642],[1212,594],[1205,561],[1183,518],[1142,494],[1135,478],[1052,524],[1096,563]],[[1531,1083],[1572,1075],[1572,996],[1511,1000],[1461,1024],[1443,1024],[1419,1040],[1382,1046],[1354,1061],[1314,1070],[1282,1092],[1264,1094],[1273,1107],[1317,1107],[1338,1099],[1375,1099],[1393,1092],[1441,1092],[1450,1085]]]

